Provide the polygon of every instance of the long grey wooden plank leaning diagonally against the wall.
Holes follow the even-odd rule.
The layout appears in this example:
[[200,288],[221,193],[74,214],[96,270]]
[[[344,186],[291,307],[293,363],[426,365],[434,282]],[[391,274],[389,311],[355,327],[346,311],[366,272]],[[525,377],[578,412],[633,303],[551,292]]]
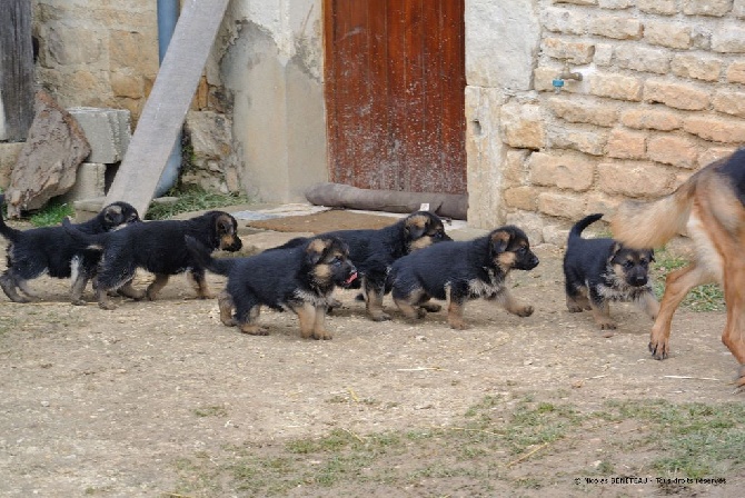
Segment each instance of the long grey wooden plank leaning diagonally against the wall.
[[143,216],[181,130],[229,0],[187,0],[106,203]]

